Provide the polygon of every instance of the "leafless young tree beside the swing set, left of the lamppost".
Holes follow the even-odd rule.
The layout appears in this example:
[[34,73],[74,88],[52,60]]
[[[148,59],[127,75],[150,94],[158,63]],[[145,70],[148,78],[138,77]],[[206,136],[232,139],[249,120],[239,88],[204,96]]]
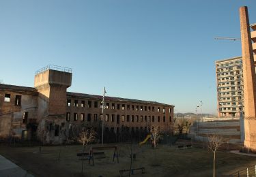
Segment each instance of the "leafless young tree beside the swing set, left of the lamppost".
[[[83,144],[83,157],[85,155],[85,147],[87,144],[94,142],[96,140],[96,132],[94,129],[85,129],[83,128],[79,137],[77,138],[78,142]],[[83,159],[82,159],[82,174],[83,174]]]

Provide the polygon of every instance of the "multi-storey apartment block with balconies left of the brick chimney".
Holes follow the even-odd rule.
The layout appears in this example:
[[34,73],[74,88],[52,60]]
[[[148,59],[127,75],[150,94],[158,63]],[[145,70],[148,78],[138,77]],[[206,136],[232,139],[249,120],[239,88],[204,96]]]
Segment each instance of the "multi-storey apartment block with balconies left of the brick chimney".
[[244,110],[242,57],[216,61],[219,117],[238,117]]

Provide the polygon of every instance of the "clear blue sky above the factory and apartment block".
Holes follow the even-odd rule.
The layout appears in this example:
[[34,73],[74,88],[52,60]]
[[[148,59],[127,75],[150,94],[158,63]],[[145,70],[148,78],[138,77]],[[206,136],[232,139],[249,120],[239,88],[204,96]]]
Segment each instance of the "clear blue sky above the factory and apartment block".
[[0,81],[33,86],[72,68],[68,91],[158,101],[216,114],[215,61],[241,56],[239,7],[256,1],[0,0]]

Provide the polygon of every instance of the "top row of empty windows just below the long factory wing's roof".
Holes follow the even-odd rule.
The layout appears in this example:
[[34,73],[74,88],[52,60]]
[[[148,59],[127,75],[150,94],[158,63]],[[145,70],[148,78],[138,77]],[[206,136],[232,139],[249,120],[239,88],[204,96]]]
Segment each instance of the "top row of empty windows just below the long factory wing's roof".
[[[70,107],[72,104],[71,99],[67,99],[67,106]],[[94,108],[99,108],[98,107],[98,101],[87,101],[87,108],[92,108],[92,105],[94,105]],[[82,100],[80,103],[80,106],[82,108],[85,107],[85,101]],[[74,99],[73,102],[73,107],[79,107],[79,100],[78,99]],[[117,108],[117,110],[141,110],[141,111],[155,111],[155,107],[154,106],[139,106],[139,105],[126,105],[126,104],[115,104],[115,103],[106,103],[106,105],[104,106],[105,109],[112,109],[115,110]],[[100,108],[102,108],[102,103],[100,103]],[[157,111],[160,112],[160,107],[157,108]],[[162,108],[162,112],[165,113],[165,108]],[[171,108],[169,108],[169,113],[171,113]]]

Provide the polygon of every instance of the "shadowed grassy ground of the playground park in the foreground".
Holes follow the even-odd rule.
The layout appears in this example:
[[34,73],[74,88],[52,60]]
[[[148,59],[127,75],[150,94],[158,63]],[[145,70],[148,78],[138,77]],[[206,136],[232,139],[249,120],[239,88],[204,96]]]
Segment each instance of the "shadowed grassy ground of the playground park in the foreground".
[[[83,161],[83,175],[81,174],[82,161],[76,153],[82,151],[82,145],[73,146],[43,146],[42,153],[39,147],[10,147],[0,145],[0,155],[10,159],[23,169],[35,176],[119,176],[119,170],[130,168],[130,144],[117,145],[119,163],[113,162],[114,149],[104,151],[104,159],[95,159],[95,165]],[[100,146],[94,144],[93,146]],[[106,145],[105,145],[106,146]],[[203,148],[189,148],[177,150],[176,146],[158,145],[152,149],[150,144],[139,147],[132,146],[136,159],[132,167],[145,167],[145,174],[139,171],[133,176],[212,176],[212,152]],[[89,146],[87,147],[89,152]],[[95,156],[97,158],[97,156]],[[217,152],[216,176],[227,176],[247,166],[255,165],[255,157],[235,155],[230,152]],[[124,174],[128,176],[128,173]]]

